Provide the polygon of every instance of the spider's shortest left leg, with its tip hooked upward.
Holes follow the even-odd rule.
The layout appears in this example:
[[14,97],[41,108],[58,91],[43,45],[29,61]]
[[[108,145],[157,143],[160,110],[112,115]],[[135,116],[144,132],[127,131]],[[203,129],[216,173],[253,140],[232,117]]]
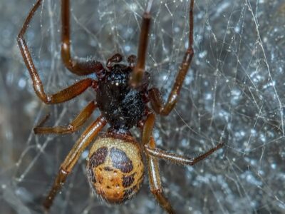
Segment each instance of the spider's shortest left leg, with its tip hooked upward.
[[90,118],[95,108],[97,108],[97,103],[95,103],[95,101],[90,102],[68,126],[43,127],[43,123],[47,121],[48,115],[40,124],[38,124],[38,126],[36,126],[36,128],[33,128],[33,132],[36,134],[73,133],[78,130],[88,118]]

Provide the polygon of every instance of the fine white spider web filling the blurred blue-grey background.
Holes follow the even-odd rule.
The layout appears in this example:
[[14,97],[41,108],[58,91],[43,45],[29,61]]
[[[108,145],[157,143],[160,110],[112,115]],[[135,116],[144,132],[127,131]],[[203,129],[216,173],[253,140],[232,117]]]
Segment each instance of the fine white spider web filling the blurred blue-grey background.
[[[5,6],[4,6],[5,4]],[[88,101],[46,106],[36,97],[16,46],[16,34],[33,1],[0,3],[0,208],[2,213],[41,213],[61,162],[83,129],[66,136],[35,136],[33,127],[67,125]],[[147,1],[71,1],[73,53],[106,58],[137,53]],[[187,47],[189,1],[155,1],[147,54],[152,85],[167,98]],[[60,56],[58,1],[45,0],[26,40],[46,91],[80,78]],[[195,2],[193,58],[179,102],[157,116],[160,148],[197,156],[226,136],[227,145],[193,167],[160,161],[165,195],[177,213],[284,213],[284,26],[285,4],[269,1]],[[94,113],[94,120],[98,112]],[[90,123],[88,121],[88,123]],[[134,134],[137,134],[134,132]],[[51,213],[163,213],[147,176],[140,193],[123,205],[106,205],[92,194],[84,152],[58,194]]]

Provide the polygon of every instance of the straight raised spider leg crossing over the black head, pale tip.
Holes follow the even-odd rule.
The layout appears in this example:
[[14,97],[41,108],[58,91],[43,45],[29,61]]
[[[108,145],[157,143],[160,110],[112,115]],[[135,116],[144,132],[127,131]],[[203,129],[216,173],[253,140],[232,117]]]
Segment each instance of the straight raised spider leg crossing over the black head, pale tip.
[[130,85],[134,88],[140,86],[145,72],[145,57],[147,54],[148,34],[150,32],[150,8],[152,1],[149,1],[147,9],[142,16],[142,27],[140,30],[140,40],[138,44],[138,61],[130,76]]

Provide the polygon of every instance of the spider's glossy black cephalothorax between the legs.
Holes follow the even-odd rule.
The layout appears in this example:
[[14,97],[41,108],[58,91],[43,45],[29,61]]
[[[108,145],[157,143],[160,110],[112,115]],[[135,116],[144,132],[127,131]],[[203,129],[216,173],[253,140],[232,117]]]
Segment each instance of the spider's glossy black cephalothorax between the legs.
[[113,129],[132,128],[145,111],[142,92],[129,86],[131,71],[128,66],[115,64],[98,83],[98,108]]

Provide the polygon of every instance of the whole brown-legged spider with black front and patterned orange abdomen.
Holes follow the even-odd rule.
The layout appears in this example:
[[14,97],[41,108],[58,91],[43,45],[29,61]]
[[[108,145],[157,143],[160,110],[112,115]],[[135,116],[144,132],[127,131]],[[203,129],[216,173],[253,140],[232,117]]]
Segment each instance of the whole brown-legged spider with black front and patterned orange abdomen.
[[[93,88],[96,97],[68,126],[43,126],[48,119],[46,117],[34,128],[34,133],[73,133],[90,118],[95,109],[98,108],[100,111],[100,116],[83,131],[66,159],[61,163],[53,186],[43,202],[43,207],[46,210],[51,208],[56,194],[73,170],[81,153],[108,123],[110,126],[108,131],[96,138],[88,155],[88,180],[95,192],[108,203],[123,203],[132,198],[140,189],[144,178],[145,166],[142,156],[145,156],[152,194],[167,213],[175,213],[162,191],[158,161],[162,159],[181,165],[194,165],[224,145],[224,143],[218,143],[206,153],[196,158],[189,158],[156,148],[155,140],[152,137],[155,113],[167,116],[175,107],[182,83],[194,56],[192,49],[194,0],[190,1],[189,46],[185,51],[185,56],[166,103],[162,101],[160,91],[157,88],[149,87],[149,73],[145,71],[152,1],[147,4],[147,9],[142,16],[138,58],[135,55],[128,56],[128,64],[126,64],[122,63],[123,56],[121,54],[114,54],[103,65],[103,63],[93,59],[79,61],[71,56],[70,2],[69,0],[62,0],[61,57],[63,64],[69,71],[78,76],[95,73],[97,78],[83,78],[72,86],[53,94],[44,91],[41,78],[38,76],[38,71],[24,39],[28,25],[41,2],[41,0],[36,1],[17,38],[36,95],[46,104],[56,104],[69,101],[86,91],[87,88]],[[130,129],[134,127],[141,131],[140,143],[130,133]]]

